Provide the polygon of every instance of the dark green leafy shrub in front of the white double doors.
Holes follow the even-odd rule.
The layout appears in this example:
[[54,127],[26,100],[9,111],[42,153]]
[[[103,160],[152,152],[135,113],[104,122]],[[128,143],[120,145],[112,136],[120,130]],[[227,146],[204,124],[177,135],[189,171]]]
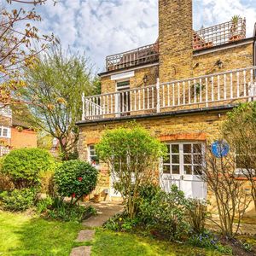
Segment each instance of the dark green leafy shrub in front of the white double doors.
[[173,185],[170,193],[152,184],[140,189],[138,218],[148,228],[169,236],[170,240],[180,239],[189,232],[186,208],[189,201],[182,191]]

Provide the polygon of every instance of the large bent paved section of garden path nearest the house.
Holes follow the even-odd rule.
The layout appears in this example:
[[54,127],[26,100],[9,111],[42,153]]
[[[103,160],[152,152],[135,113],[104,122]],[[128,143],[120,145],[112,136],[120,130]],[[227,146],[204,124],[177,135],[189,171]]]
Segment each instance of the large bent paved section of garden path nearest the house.
[[113,217],[115,214],[123,212],[124,207],[122,204],[116,202],[100,202],[91,204],[91,206],[96,208],[97,214],[95,216],[91,216],[84,220],[83,225],[86,227],[101,227],[108,218]]

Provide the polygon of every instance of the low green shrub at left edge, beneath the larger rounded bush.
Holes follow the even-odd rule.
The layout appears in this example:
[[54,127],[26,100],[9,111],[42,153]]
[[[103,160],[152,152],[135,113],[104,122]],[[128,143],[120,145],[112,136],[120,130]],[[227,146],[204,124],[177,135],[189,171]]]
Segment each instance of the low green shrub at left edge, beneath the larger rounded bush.
[[35,189],[14,189],[4,191],[0,197],[3,202],[3,208],[9,211],[25,211],[32,207],[36,200]]

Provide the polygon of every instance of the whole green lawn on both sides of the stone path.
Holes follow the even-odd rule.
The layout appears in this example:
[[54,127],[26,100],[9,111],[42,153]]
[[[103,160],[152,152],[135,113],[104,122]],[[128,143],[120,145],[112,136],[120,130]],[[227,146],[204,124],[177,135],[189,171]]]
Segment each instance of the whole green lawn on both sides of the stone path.
[[[81,229],[81,224],[0,212],[0,255],[68,256],[71,248],[79,245],[74,239]],[[96,230],[94,241],[84,245],[92,245],[92,256],[220,255],[201,248],[102,229]]]

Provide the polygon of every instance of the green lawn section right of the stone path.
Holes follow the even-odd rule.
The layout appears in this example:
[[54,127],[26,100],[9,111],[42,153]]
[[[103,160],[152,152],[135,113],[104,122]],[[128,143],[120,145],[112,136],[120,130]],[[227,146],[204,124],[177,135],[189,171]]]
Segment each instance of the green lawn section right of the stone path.
[[92,256],[218,256],[216,251],[184,246],[167,241],[140,237],[127,233],[97,230],[92,243]]

